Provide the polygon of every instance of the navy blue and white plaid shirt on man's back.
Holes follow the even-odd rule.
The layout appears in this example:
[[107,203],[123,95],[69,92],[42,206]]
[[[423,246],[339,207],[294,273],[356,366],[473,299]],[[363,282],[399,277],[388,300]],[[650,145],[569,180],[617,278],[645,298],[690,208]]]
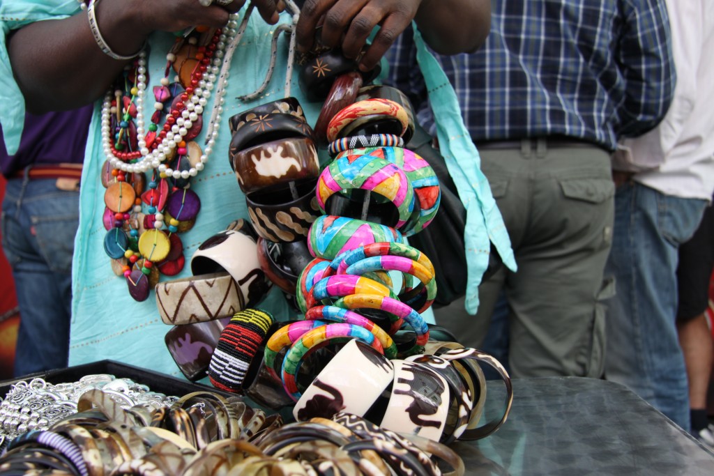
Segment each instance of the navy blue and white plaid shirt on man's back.
[[[614,150],[657,125],[675,81],[664,1],[492,0],[491,34],[474,54],[437,56],[476,143],[569,136]],[[385,82],[406,92],[433,133],[407,30]]]

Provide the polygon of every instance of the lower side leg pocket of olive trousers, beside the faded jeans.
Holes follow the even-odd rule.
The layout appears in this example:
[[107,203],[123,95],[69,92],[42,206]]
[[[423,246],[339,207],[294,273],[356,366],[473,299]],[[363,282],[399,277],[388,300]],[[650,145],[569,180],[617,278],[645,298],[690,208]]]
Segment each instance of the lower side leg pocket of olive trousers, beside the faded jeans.
[[595,296],[590,342],[583,343],[575,362],[583,377],[602,378],[605,373],[605,301],[615,295],[615,278],[605,278]]

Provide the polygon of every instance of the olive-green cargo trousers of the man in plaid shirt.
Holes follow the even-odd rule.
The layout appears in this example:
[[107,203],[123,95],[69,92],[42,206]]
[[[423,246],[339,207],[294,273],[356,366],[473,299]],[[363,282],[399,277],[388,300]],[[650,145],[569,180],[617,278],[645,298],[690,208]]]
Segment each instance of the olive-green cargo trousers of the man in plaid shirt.
[[512,376],[598,378],[603,299],[612,290],[603,281],[613,229],[610,156],[584,143],[521,142],[521,148],[479,148],[518,272],[501,268],[481,284],[476,315],[458,300],[436,309],[436,322],[464,345],[481,348],[503,290]]

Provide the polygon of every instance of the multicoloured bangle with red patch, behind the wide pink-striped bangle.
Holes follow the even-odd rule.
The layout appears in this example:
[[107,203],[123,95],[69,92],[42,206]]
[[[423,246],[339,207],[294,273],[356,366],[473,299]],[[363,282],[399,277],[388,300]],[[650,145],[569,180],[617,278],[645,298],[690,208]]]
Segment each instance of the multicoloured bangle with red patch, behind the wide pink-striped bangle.
[[429,163],[409,149],[391,146],[354,148],[339,153],[337,158],[361,155],[381,157],[403,169],[414,188],[419,206],[418,215],[403,228],[403,233],[412,236],[426,228],[436,216],[441,202],[438,177]]

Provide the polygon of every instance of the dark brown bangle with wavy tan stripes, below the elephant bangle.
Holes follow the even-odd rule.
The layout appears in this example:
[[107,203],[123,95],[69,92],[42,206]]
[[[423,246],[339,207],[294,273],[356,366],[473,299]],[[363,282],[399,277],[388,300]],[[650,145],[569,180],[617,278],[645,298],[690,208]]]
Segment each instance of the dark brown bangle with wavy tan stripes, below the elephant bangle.
[[[313,222],[321,215],[315,197],[317,180],[271,188],[269,192],[246,195],[248,216],[258,236],[273,243],[305,240]],[[294,191],[294,196],[293,196]]]

